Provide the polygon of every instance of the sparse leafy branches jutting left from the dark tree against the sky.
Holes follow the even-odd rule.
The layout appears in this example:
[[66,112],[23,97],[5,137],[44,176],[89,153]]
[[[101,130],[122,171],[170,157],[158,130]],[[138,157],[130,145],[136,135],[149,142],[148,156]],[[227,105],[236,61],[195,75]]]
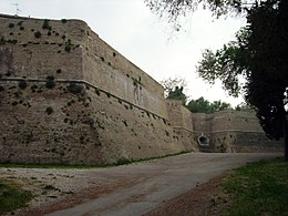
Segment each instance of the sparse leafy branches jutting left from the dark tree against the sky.
[[237,34],[237,41],[225,44],[223,49],[215,53],[210,50],[203,52],[203,60],[197,66],[197,72],[200,78],[208,81],[210,84],[219,79],[223,82],[224,89],[233,96],[238,96],[243,85],[241,78],[246,74],[249,54],[246,37],[249,34],[247,29],[241,29]]

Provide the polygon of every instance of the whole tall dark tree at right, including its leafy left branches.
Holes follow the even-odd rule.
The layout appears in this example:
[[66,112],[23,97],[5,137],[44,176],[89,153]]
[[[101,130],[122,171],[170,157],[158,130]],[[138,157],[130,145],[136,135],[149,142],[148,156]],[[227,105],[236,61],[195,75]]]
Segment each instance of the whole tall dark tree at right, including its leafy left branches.
[[[206,50],[197,71],[209,82],[220,79],[233,95],[241,89],[246,101],[256,109],[267,136],[284,137],[288,161],[288,123],[284,109],[288,86],[288,3],[270,0],[255,4],[248,12],[247,22],[236,41],[216,53]],[[243,86],[239,75],[246,78]]]

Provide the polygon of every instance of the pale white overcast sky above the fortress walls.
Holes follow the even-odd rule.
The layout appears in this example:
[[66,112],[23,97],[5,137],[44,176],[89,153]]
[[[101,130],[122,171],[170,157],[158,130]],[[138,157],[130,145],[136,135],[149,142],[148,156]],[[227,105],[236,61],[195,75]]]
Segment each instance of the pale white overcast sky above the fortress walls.
[[0,13],[48,19],[81,19],[100,38],[148,73],[156,81],[184,78],[191,99],[204,96],[237,105],[243,99],[228,96],[220,84],[213,86],[198,78],[195,66],[204,49],[220,49],[245,24],[241,19],[212,18],[198,10],[186,19],[184,31],[172,28],[145,7],[144,0],[1,0]]

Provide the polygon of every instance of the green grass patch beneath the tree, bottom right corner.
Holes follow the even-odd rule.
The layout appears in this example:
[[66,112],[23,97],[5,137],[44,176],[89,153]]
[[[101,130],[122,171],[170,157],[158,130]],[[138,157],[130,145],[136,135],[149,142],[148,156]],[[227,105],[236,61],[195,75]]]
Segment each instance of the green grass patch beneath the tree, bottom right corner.
[[237,168],[222,186],[233,200],[225,215],[288,215],[288,163],[284,160]]

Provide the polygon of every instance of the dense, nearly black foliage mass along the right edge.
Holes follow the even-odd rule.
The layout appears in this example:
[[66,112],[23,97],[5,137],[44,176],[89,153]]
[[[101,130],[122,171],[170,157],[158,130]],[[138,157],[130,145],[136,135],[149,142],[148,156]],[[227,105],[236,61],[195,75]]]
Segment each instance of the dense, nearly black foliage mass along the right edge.
[[[267,1],[248,16],[251,33],[247,101],[257,109],[259,122],[270,138],[288,135],[284,93],[288,88],[288,4]],[[288,160],[288,140],[285,138]]]

